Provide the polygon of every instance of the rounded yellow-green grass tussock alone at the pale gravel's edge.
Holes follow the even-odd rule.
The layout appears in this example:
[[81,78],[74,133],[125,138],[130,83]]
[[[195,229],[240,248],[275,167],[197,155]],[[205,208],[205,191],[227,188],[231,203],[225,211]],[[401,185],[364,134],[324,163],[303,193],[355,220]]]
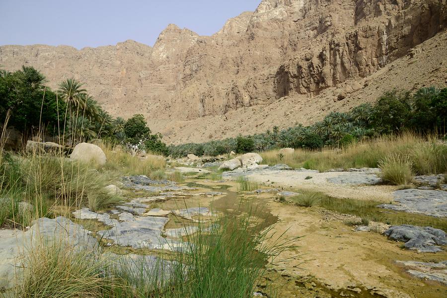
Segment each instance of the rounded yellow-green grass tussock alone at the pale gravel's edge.
[[394,185],[409,184],[414,177],[408,156],[392,154],[379,161],[380,176]]

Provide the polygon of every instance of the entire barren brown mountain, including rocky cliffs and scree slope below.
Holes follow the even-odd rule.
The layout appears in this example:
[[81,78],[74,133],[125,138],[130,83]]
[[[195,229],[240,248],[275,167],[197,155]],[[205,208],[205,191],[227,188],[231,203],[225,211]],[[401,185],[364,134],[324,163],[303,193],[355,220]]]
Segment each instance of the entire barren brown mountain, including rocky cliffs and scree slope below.
[[168,25],[76,50],[1,46],[50,87],[75,77],[114,116],[143,114],[168,143],[310,123],[400,87],[447,85],[446,0],[263,0],[212,36]]

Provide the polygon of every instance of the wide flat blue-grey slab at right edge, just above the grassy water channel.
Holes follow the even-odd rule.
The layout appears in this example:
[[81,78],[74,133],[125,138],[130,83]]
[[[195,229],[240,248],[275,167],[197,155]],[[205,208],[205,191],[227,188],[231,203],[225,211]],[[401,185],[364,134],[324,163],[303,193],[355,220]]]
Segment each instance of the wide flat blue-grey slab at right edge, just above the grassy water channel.
[[394,191],[393,196],[396,204],[381,204],[378,207],[435,217],[447,217],[447,191],[403,189]]

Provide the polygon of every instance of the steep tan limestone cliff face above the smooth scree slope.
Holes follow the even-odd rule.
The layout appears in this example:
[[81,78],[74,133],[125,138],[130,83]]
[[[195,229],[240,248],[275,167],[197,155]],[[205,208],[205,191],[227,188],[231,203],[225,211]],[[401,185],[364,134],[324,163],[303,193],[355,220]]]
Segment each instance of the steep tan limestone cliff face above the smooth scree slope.
[[361,88],[443,31],[446,6],[446,0],[262,0],[212,36],[169,25],[153,48],[134,41],[79,51],[1,46],[0,65],[33,65],[53,88],[73,76],[111,114],[142,113],[159,127]]

